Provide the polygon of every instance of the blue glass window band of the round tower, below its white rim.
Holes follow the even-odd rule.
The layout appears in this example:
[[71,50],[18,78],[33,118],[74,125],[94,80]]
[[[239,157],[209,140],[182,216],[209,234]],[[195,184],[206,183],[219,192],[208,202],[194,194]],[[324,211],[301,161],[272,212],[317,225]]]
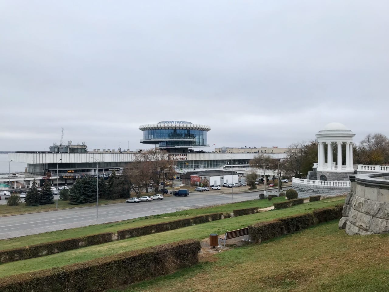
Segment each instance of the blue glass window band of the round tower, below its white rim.
[[[159,142],[159,147],[205,146],[207,145],[207,131],[185,129],[157,129],[143,131],[144,143],[147,143],[147,140],[158,141],[169,139],[172,139],[173,141],[161,141]],[[182,141],[180,141],[181,139]],[[150,143],[154,144],[151,141]]]

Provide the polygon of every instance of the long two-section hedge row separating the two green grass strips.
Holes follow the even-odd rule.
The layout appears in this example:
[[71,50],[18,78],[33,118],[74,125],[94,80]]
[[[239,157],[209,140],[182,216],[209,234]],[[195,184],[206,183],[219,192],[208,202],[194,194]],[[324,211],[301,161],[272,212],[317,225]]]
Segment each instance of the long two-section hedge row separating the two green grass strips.
[[100,245],[110,241],[126,239],[129,237],[137,237],[148,235],[157,232],[163,232],[182,227],[191,226],[194,224],[201,224],[214,220],[221,219],[219,213],[212,213],[209,215],[200,215],[190,218],[179,219],[170,222],[145,225],[134,227],[130,229],[119,230],[117,233],[107,232],[101,234],[93,234],[84,237],[77,237],[71,239],[63,239],[49,243],[42,243],[39,245],[24,246],[21,248],[14,248],[11,250],[0,251],[0,262],[14,262],[17,260],[33,259],[36,257],[43,257],[45,255],[52,255],[54,253],[66,252],[68,250],[75,250],[84,246]]

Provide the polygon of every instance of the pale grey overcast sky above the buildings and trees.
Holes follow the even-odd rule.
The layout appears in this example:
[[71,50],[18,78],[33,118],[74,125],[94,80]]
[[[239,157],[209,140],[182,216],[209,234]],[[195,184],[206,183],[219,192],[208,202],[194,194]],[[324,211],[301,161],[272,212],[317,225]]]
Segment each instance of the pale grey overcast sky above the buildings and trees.
[[[389,135],[388,1],[0,0],[0,151],[149,148],[139,125],[279,146]],[[45,149],[46,148],[46,149]]]

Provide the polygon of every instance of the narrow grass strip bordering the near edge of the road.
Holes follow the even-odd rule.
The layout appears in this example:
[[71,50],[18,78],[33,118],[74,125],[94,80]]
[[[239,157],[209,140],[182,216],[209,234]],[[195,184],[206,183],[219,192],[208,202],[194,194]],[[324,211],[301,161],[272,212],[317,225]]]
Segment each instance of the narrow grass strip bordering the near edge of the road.
[[[149,225],[149,224],[160,223],[160,222],[168,222],[180,218],[185,218],[188,216],[196,216],[196,215],[217,213],[217,212],[232,213],[234,209],[236,210],[236,209],[251,208],[251,207],[266,208],[269,206],[273,206],[274,202],[280,202],[284,200],[285,200],[284,197],[274,198],[272,201],[251,200],[251,201],[219,205],[219,206],[214,206],[209,208],[189,209],[185,211],[178,211],[173,213],[165,213],[160,215],[135,218],[135,219],[125,220],[116,223],[90,225],[90,226],[79,227],[74,229],[58,230],[58,231],[28,235],[23,237],[2,239],[0,240],[0,250],[18,248],[18,247],[28,246],[28,245],[35,245],[38,243],[45,243],[49,241],[56,241],[56,240],[61,240],[66,238],[81,237],[89,234],[97,234],[103,232],[116,232],[117,230],[120,229],[127,229],[131,227]],[[123,202],[123,199],[121,199],[121,202]]]

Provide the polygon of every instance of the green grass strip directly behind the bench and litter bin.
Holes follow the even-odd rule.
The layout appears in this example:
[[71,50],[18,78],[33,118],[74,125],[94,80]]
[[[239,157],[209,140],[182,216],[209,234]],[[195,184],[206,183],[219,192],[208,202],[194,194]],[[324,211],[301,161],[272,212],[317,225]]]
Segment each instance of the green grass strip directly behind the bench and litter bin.
[[0,277],[12,274],[21,274],[28,271],[36,271],[39,269],[48,269],[51,267],[59,267],[75,262],[84,262],[86,260],[112,255],[129,250],[144,248],[147,246],[155,246],[172,241],[178,241],[187,238],[203,239],[209,236],[210,233],[223,234],[228,230],[247,227],[258,221],[269,221],[282,216],[289,216],[297,213],[311,212],[313,209],[324,208],[342,204],[344,199],[333,198],[318,202],[310,202],[287,209],[273,210],[267,212],[256,213],[253,215],[238,216],[223,220],[217,220],[209,223],[193,225],[181,229],[150,234],[147,236],[134,237],[102,245],[89,246],[71,250],[68,252],[47,255],[45,257],[21,260],[0,265]]

